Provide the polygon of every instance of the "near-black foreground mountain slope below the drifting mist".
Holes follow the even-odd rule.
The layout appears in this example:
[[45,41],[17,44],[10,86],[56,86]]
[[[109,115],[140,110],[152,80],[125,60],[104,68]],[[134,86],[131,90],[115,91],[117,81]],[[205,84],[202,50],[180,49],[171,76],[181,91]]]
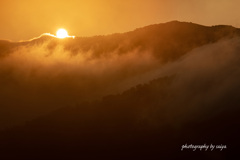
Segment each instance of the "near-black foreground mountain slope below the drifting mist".
[[[206,113],[177,106],[182,92],[170,89],[175,77],[138,85],[101,101],[62,108],[25,126],[1,133],[1,155],[57,158],[178,158],[228,159],[237,152],[238,96],[219,100]],[[189,97],[192,98],[192,97]],[[228,101],[228,106],[222,102]],[[234,102],[234,103],[233,103]],[[185,106],[184,106],[185,105]],[[206,107],[206,106],[204,106]],[[212,110],[217,108],[217,110]],[[224,110],[221,110],[224,108]],[[212,110],[212,111],[211,111]],[[186,120],[186,121],[185,121]],[[181,151],[186,144],[224,144],[225,151]]]

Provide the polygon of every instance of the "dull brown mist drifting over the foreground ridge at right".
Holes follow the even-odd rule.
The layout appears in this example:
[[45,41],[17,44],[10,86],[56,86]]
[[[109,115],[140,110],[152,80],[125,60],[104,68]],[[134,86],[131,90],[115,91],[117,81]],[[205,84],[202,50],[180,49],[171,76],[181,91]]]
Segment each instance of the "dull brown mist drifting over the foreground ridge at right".
[[[174,76],[164,103],[169,123],[179,125],[238,110],[240,38],[220,40],[196,48],[149,75]],[[160,109],[156,115],[161,114]]]

